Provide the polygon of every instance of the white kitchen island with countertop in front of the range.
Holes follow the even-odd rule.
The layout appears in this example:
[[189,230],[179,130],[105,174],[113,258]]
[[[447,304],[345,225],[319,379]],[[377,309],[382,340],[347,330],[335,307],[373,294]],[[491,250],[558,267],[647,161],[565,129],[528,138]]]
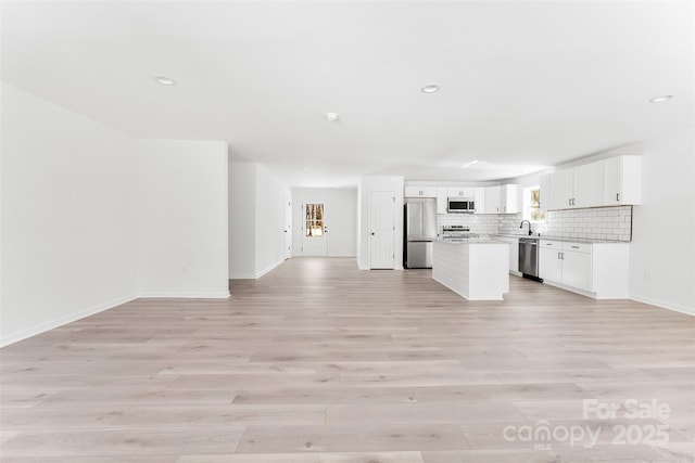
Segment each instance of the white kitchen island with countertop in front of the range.
[[468,300],[509,292],[509,245],[493,239],[435,240],[432,278]]

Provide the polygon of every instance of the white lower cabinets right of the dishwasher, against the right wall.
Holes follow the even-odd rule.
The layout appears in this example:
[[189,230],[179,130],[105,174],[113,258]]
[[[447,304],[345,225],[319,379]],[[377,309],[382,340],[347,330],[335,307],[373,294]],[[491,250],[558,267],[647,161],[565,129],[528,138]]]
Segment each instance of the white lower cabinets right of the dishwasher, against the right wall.
[[596,299],[628,297],[628,243],[540,241],[544,283]]

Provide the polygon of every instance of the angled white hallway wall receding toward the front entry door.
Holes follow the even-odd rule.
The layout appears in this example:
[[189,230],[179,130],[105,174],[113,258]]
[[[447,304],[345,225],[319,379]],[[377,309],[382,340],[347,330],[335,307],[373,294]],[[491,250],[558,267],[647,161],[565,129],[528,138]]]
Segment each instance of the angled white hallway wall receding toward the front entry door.
[[285,261],[290,188],[257,163],[229,163],[229,278],[256,279]]

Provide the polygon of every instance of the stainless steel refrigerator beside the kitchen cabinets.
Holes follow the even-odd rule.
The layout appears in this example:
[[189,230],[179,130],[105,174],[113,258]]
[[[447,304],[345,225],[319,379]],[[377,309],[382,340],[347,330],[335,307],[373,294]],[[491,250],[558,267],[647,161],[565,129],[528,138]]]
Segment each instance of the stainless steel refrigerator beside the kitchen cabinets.
[[437,237],[437,200],[407,200],[404,208],[404,265],[407,269],[431,269],[432,240]]

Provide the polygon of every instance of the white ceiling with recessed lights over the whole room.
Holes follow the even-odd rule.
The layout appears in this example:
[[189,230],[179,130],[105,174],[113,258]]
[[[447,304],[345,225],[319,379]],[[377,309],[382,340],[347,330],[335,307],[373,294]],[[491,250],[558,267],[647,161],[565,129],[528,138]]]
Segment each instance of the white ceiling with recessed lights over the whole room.
[[[25,0],[1,14],[2,80],[138,138],[225,140],[293,185],[494,180],[693,126],[691,1]],[[675,98],[648,103],[661,94]]]

